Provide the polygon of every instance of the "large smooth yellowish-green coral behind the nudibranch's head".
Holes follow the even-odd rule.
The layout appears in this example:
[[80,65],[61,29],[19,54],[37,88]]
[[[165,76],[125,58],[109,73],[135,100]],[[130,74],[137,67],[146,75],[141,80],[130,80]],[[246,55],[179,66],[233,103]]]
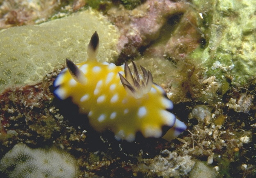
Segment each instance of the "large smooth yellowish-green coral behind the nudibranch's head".
[[87,59],[86,46],[98,32],[98,59],[111,62],[116,57],[117,28],[99,12],[87,10],[40,25],[11,27],[0,32],[0,91],[16,84],[38,82],[66,58]]

